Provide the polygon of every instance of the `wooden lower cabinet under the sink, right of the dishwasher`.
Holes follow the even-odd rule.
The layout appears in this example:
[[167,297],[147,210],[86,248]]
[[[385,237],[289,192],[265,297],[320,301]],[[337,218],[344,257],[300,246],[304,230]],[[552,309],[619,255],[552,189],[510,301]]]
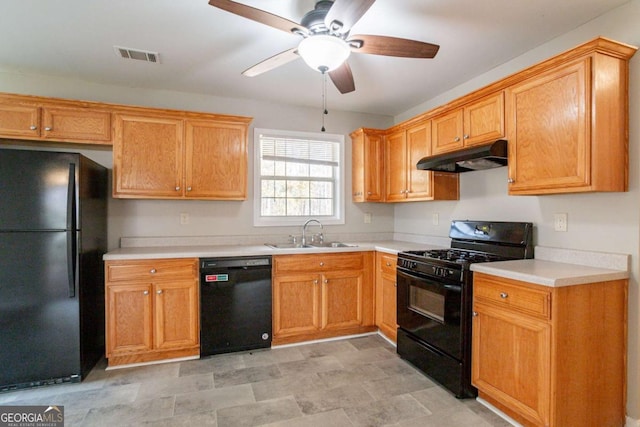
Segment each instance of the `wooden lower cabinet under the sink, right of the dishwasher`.
[[376,330],[373,252],[273,257],[273,344]]

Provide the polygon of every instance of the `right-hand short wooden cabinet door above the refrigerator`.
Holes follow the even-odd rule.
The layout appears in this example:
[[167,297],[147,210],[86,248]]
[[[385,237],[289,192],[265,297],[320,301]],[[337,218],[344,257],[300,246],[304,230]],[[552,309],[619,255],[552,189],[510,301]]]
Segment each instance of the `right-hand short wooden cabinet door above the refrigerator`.
[[111,143],[111,113],[107,111],[45,107],[42,122],[43,138]]

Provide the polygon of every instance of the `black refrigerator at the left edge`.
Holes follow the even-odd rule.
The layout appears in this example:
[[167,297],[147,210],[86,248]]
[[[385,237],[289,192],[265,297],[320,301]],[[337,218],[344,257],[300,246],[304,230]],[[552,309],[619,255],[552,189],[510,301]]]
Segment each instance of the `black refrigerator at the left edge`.
[[107,170],[0,148],[0,391],[78,382],[104,354]]

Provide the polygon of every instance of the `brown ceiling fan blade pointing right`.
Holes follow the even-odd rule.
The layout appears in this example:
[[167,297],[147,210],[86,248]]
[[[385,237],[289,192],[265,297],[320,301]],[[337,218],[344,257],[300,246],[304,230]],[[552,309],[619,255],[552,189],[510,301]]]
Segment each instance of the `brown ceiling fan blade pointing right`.
[[[388,36],[357,35],[347,40],[353,52],[373,55],[400,56],[403,58],[433,58],[440,46],[417,40]],[[357,47],[358,44],[362,44]]]

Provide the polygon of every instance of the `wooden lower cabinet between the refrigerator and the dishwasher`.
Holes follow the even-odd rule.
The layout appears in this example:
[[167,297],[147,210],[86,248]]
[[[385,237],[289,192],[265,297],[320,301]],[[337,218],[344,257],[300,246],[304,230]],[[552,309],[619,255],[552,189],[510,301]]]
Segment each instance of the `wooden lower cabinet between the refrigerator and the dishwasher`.
[[200,354],[198,260],[107,261],[109,366]]

